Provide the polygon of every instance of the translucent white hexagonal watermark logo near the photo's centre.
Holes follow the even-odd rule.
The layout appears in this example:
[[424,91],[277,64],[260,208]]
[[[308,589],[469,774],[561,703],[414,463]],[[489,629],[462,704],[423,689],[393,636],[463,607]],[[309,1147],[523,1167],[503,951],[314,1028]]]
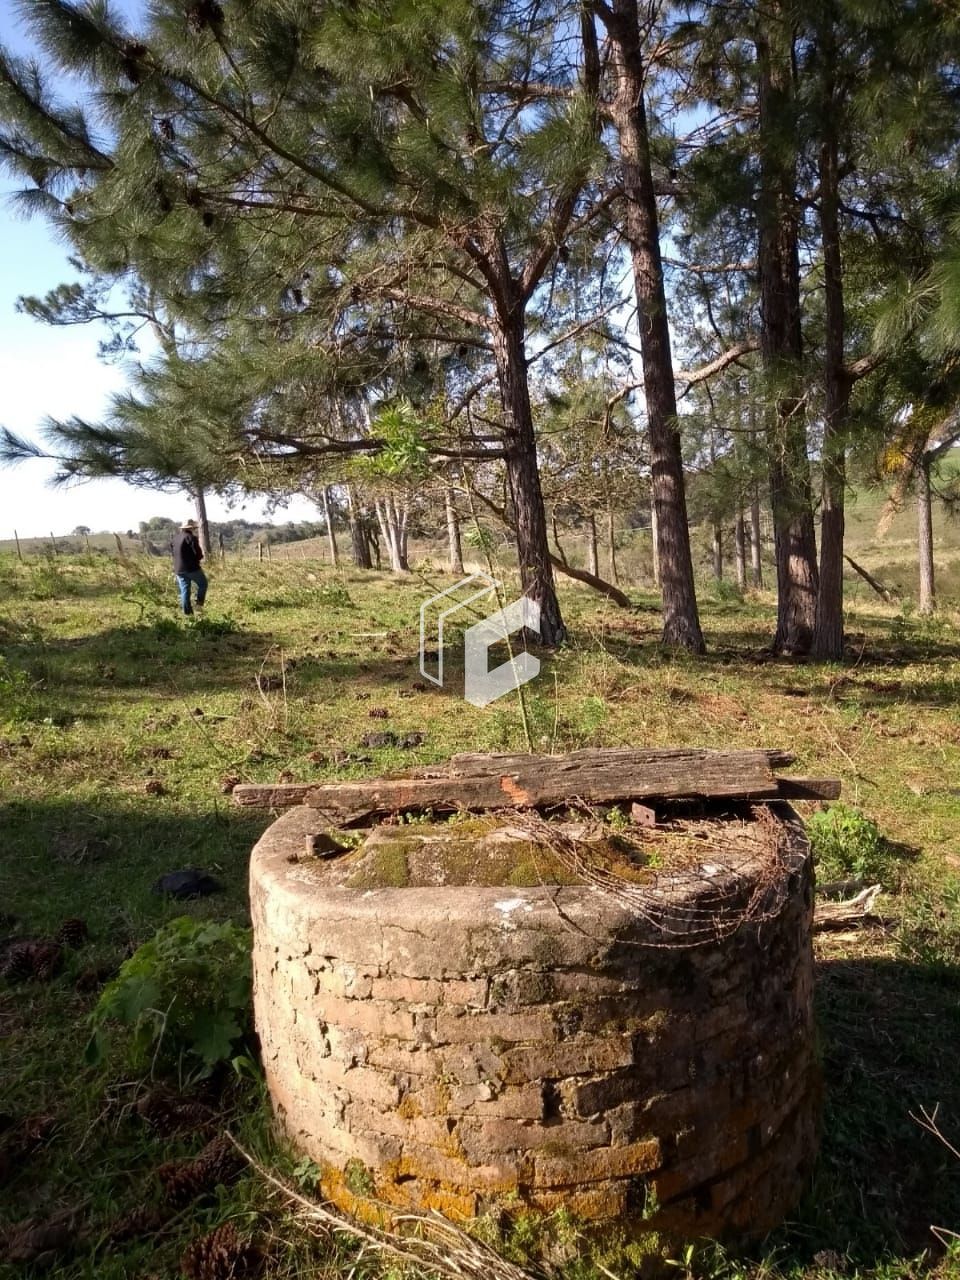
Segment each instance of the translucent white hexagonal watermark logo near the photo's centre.
[[[500,586],[495,577],[486,573],[471,573],[445,591],[438,591],[420,605],[420,675],[443,689],[443,626],[447,618],[461,609],[476,604],[484,596],[492,595]],[[467,590],[465,598],[460,598]],[[454,598],[451,600],[451,598]],[[451,602],[451,603],[448,603]],[[439,609],[435,620],[436,630],[428,632],[428,613]],[[512,689],[520,689],[540,673],[540,659],[531,653],[518,653],[507,662],[488,671],[488,655],[493,645],[499,644],[515,631],[526,628],[540,634],[540,605],[536,600],[521,595],[495,613],[489,613],[463,632],[463,698],[474,707],[488,707],[503,698]],[[436,675],[426,669],[428,634],[436,637]]]

